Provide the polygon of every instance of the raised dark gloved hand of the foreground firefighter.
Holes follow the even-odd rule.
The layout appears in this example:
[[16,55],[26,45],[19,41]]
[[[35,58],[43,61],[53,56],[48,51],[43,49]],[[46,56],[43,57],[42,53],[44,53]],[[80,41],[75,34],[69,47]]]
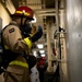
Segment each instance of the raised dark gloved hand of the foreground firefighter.
[[31,37],[32,42],[35,43],[36,40],[38,40],[43,35],[43,28],[39,25],[37,28],[37,32]]

